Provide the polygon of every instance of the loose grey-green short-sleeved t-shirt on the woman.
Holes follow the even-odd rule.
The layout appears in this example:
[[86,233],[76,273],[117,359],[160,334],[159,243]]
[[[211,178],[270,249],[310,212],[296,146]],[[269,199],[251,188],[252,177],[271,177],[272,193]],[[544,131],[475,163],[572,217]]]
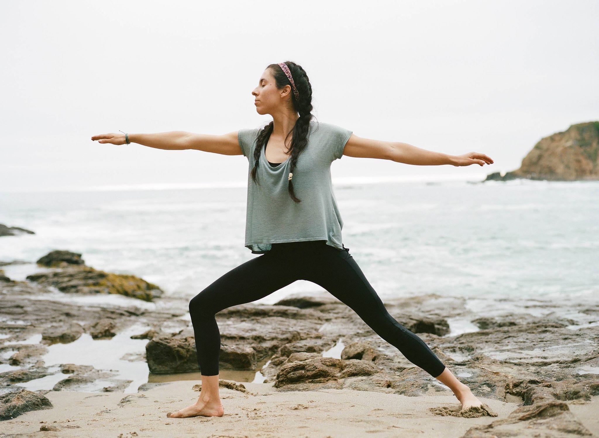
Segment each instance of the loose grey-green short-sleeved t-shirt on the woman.
[[289,159],[272,167],[262,147],[256,169],[259,185],[250,175],[261,130],[240,129],[238,133],[241,151],[249,161],[245,246],[252,254],[264,254],[274,243],[325,240],[343,250],[343,220],[333,193],[331,163],[343,156],[352,131],[310,120],[308,144],[299,154],[292,177],[295,196],[301,200],[297,203],[289,196]]

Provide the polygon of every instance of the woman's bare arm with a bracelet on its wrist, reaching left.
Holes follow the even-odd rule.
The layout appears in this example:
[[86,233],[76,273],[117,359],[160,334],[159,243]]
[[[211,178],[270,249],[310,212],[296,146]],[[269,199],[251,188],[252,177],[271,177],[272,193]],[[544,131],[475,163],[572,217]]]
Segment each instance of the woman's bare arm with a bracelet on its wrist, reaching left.
[[[98,143],[126,144],[125,134],[108,133],[92,136]],[[223,155],[241,155],[237,131],[223,135],[196,134],[186,131],[129,134],[129,142],[164,150],[187,150],[212,152]]]

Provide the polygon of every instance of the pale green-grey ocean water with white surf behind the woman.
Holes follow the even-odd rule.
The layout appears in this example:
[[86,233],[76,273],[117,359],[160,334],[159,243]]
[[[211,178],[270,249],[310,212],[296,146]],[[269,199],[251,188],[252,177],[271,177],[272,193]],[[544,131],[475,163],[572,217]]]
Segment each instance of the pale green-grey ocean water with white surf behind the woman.
[[[383,300],[435,293],[471,299],[599,295],[599,182],[335,184],[343,244]],[[81,253],[190,299],[259,255],[244,247],[244,187],[0,193],[0,260]],[[14,279],[38,270],[7,266]],[[271,294],[322,291],[299,280]],[[99,297],[99,299],[102,299]]]

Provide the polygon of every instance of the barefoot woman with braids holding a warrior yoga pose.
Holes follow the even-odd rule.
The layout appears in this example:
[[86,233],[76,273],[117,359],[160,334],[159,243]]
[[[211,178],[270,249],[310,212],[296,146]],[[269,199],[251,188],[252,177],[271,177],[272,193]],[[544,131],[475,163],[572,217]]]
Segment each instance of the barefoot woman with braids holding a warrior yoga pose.
[[202,390],[196,403],[167,416],[222,416],[219,396],[220,332],[217,312],[261,299],[298,280],[319,284],[352,308],[379,336],[447,385],[462,409],[479,399],[447,369],[416,334],[401,326],[341,241],[343,220],[332,191],[330,166],[343,155],[412,165],[483,166],[485,154],[460,156],[400,142],[360,138],[352,131],[313,120],[312,89],[304,69],[287,61],[269,65],[252,91],[258,114],[273,120],[257,129],[225,135],[188,132],[105,134],[92,140],[116,145],[196,149],[249,160],[246,244],[262,254],[216,279],[189,303]]

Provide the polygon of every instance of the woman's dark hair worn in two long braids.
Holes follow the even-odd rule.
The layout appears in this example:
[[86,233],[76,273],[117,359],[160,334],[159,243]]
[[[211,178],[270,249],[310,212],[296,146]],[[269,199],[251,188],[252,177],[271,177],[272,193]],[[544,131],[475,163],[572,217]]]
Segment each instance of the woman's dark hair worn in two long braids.
[[[310,120],[314,117],[311,114],[313,109],[312,107],[312,86],[310,85],[310,80],[308,80],[308,75],[305,73],[305,70],[301,67],[301,65],[296,64],[295,62],[285,61],[286,65],[289,67],[289,71],[291,72],[291,77],[294,78],[295,88],[298,90],[298,98],[295,97],[293,93],[293,87],[289,96],[291,96],[291,103],[295,109],[299,113],[299,118],[295,121],[294,127],[287,133],[285,136],[285,140],[292,134],[291,139],[291,158],[289,161],[291,162],[290,172],[293,172],[295,169],[295,163],[297,163],[298,156],[302,150],[304,150],[305,146],[308,144],[308,133],[310,132]],[[270,64],[267,69],[270,69],[274,76],[274,81],[276,83],[277,88],[280,90],[286,85],[291,87],[291,82],[289,78],[283,72],[283,69],[279,64]],[[271,133],[273,132],[274,120],[269,124],[264,126],[261,132],[258,134],[258,138],[256,139],[256,148],[254,150],[254,167],[252,168],[252,179],[256,184],[258,183],[258,164],[260,162],[260,154],[262,153],[262,148],[266,145],[268,138],[270,138]],[[289,153],[289,151],[288,151]],[[292,180],[289,180],[289,196],[295,202],[301,202],[301,200],[295,197],[294,193],[294,185]]]

